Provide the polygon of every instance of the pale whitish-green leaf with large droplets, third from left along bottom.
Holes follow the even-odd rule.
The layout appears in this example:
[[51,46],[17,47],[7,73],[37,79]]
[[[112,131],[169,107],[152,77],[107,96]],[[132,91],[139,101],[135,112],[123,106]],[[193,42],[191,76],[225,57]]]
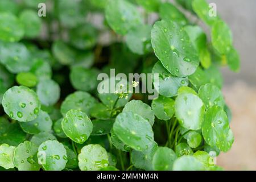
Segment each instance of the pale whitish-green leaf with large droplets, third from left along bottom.
[[68,162],[67,151],[57,140],[47,140],[38,148],[38,163],[46,171],[61,171]]

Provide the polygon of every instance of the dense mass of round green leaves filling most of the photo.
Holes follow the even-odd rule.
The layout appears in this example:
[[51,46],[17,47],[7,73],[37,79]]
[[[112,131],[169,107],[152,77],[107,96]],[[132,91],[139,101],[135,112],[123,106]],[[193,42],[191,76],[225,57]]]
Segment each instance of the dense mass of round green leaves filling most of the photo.
[[[239,71],[240,60],[209,10],[205,0],[1,0],[0,170],[221,170],[214,157],[234,137],[218,68]],[[98,93],[111,68],[158,73],[159,97]]]

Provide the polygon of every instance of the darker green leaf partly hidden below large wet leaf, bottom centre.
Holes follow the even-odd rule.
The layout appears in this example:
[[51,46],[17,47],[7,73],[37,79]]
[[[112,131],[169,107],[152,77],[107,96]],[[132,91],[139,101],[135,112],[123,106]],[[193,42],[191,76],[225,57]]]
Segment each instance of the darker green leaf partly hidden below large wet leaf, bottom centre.
[[158,144],[153,142],[147,150],[140,151],[131,151],[131,162],[134,164],[134,167],[145,170],[152,170],[152,159],[155,154],[155,151],[158,149]]

